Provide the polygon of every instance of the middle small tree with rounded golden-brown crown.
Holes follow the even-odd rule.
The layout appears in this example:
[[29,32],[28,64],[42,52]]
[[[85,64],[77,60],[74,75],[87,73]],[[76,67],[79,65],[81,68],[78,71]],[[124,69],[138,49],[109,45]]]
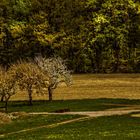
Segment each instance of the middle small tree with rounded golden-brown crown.
[[26,90],[29,96],[29,104],[32,105],[33,89],[41,91],[44,86],[45,75],[33,62],[20,61],[11,66],[11,69],[17,77],[17,84],[21,90]]

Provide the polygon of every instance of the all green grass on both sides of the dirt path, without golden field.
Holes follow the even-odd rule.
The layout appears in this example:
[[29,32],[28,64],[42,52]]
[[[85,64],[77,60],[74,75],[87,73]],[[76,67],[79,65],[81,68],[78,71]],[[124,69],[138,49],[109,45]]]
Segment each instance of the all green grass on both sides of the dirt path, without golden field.
[[[9,103],[9,112],[53,112],[70,108],[71,111],[105,110],[118,107],[116,105],[140,105],[139,100],[129,99],[89,99],[67,101],[35,101],[33,106],[28,102],[14,101]],[[34,115],[13,120],[0,126],[0,134],[7,134],[43,125],[56,124],[65,120],[82,117],[79,115]],[[130,115],[98,117],[90,120],[72,122],[53,128],[39,128],[32,131],[0,137],[3,140],[139,140],[140,118]]]

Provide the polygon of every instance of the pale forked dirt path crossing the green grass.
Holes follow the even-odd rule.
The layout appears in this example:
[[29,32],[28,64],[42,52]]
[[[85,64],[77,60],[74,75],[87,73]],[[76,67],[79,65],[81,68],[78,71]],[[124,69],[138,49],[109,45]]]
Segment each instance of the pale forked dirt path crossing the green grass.
[[126,107],[107,109],[104,111],[81,111],[81,112],[64,112],[64,113],[32,112],[32,113],[29,113],[29,115],[52,115],[52,114],[54,114],[54,115],[83,115],[83,116],[80,118],[62,121],[62,122],[51,124],[51,125],[42,125],[42,126],[29,128],[29,129],[19,130],[16,132],[5,133],[5,134],[0,135],[0,137],[5,137],[7,135],[19,134],[19,133],[24,133],[24,132],[35,131],[35,130],[41,129],[41,128],[54,128],[54,127],[57,127],[59,125],[64,125],[64,124],[78,122],[78,121],[85,121],[85,120],[92,119],[95,117],[125,115],[125,114],[129,114],[129,113],[133,113],[133,112],[140,112],[140,106],[126,106]]

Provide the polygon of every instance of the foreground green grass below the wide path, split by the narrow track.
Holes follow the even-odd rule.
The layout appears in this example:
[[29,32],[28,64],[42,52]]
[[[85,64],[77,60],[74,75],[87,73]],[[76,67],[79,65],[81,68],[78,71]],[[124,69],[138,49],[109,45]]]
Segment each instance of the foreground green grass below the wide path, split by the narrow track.
[[[63,119],[62,119],[63,118]],[[11,126],[1,127],[0,133],[15,132],[23,125],[26,128],[35,128],[41,124],[59,122],[58,116],[42,117],[20,120]],[[54,120],[53,120],[54,119]],[[72,117],[61,116],[62,120]],[[27,127],[28,126],[28,127]],[[17,128],[16,128],[17,127]],[[72,122],[58,125],[52,128],[43,127],[21,133],[13,133],[1,137],[2,140],[139,140],[140,139],[140,118],[130,115],[90,118],[89,120]]]

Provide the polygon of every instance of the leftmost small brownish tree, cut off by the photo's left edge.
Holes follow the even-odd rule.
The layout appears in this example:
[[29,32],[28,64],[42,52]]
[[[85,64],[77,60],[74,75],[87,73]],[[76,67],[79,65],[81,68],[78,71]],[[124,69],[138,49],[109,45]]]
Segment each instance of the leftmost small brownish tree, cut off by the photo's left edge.
[[10,71],[0,67],[0,96],[5,102],[5,111],[10,97],[15,94],[15,83],[16,79]]

